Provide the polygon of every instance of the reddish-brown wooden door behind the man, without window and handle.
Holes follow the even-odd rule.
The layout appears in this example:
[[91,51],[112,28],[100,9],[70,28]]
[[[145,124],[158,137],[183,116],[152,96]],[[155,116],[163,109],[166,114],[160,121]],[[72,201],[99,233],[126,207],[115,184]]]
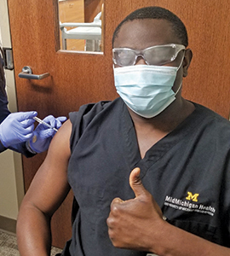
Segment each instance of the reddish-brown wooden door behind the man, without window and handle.
[[[183,95],[229,116],[230,100],[230,2],[228,0],[105,0],[104,54],[85,55],[59,49],[57,1],[9,0],[15,78],[20,111],[37,110],[67,115],[87,102],[112,100],[112,32],[131,11],[148,5],[170,9],[187,26],[193,61],[183,83]],[[34,73],[50,73],[40,81],[19,79],[24,66]],[[26,189],[45,153],[23,158]],[[63,247],[71,236],[72,195],[55,213],[54,244]]]

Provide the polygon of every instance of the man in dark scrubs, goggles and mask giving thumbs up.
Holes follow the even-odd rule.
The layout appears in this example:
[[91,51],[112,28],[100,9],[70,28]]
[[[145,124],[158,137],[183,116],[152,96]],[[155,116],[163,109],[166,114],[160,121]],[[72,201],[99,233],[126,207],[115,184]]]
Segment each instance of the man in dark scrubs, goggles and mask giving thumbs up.
[[62,255],[230,255],[230,125],[181,97],[185,26],[138,9],[112,52],[120,97],[70,113],[55,136],[20,208],[21,255],[49,255],[50,218],[70,188],[78,212]]

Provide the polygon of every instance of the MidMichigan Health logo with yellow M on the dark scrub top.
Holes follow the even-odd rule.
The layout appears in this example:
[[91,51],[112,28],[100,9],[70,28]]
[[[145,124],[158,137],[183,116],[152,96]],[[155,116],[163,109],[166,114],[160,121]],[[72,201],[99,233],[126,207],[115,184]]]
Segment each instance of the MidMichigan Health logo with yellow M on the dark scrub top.
[[197,193],[192,193],[187,191],[187,196],[185,200],[181,200],[179,198],[172,197],[170,195],[165,196],[164,206],[172,207],[179,211],[184,212],[199,212],[202,214],[209,214],[210,216],[214,216],[216,209],[210,205],[201,204],[198,202]]

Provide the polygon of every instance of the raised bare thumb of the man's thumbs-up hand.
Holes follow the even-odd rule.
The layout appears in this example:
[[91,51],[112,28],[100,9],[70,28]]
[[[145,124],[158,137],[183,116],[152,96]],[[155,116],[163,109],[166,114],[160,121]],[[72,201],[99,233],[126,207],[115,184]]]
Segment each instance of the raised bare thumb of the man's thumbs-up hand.
[[129,175],[129,185],[133,189],[135,197],[146,194],[147,191],[141,182],[140,172],[141,169],[137,167]]

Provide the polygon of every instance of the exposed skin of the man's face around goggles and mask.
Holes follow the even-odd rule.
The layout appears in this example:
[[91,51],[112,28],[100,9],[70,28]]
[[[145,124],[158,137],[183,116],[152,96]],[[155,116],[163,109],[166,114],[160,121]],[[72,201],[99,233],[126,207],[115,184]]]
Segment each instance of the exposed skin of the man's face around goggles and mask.
[[[146,49],[155,45],[181,44],[181,40],[175,37],[172,26],[167,20],[132,20],[124,23],[115,38],[113,48]],[[183,58],[184,50],[177,55],[175,61],[164,66],[179,67]],[[146,65],[146,62],[139,56],[135,65]],[[182,63],[183,66],[183,63]],[[116,66],[115,66],[116,67]],[[183,67],[181,67],[175,79],[173,90],[177,90],[183,77]]]

